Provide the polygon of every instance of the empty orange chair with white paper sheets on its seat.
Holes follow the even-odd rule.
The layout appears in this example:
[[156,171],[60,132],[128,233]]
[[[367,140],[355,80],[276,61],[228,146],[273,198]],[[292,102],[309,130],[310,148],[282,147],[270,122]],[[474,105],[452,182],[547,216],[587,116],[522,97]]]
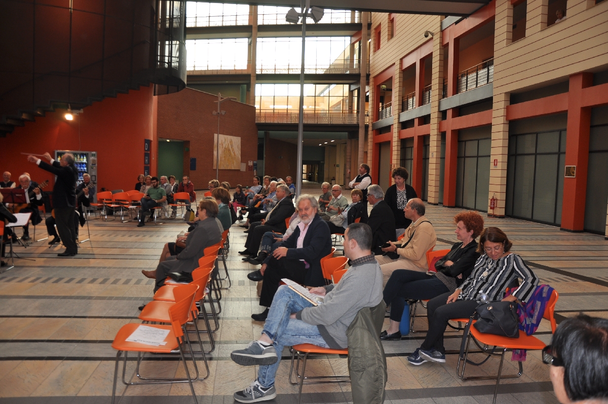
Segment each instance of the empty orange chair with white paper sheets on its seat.
[[[190,391],[192,392],[192,397],[194,397],[195,404],[198,404],[198,400],[196,399],[196,393],[194,391],[194,386],[192,385],[193,380],[198,380],[199,373],[198,367],[196,366],[196,360],[194,357],[194,353],[192,349],[190,349],[189,357],[192,358],[192,362],[194,364],[196,370],[196,377],[193,379],[190,377],[190,371],[188,370],[188,364],[185,361],[184,357],[184,344],[187,343],[190,346],[190,340],[188,339],[188,334],[185,332],[185,324],[188,322],[188,316],[190,314],[190,308],[192,307],[192,303],[195,298],[195,292],[188,294],[184,299],[177,302],[171,308],[169,308],[169,317],[171,324],[170,325],[147,325],[145,327],[153,327],[159,330],[168,331],[168,335],[165,338],[165,345],[160,346],[151,346],[142,343],[130,342],[126,341],[127,338],[133,334],[133,332],[137,329],[137,327],[142,326],[142,324],[130,323],[125,324],[116,334],[114,338],[114,342],[112,342],[112,348],[116,349],[118,352],[116,354],[116,364],[114,366],[114,383],[112,385],[112,404],[114,404],[116,400],[116,380],[118,376],[118,365],[119,361],[122,357],[122,353],[125,353],[125,358],[123,362],[123,372],[122,372],[122,382],[125,385],[149,385],[154,383],[185,383],[188,382],[190,384]],[[184,338],[185,336],[185,338]],[[179,349],[179,355],[181,356],[182,363],[184,364],[184,370],[186,373],[186,378],[145,378],[140,375],[139,372],[139,364],[142,359],[142,354],[146,352],[152,353],[171,353],[171,350]],[[137,377],[142,379],[143,381],[132,382],[125,380],[125,371],[126,371],[126,363],[128,352],[137,352]],[[205,358],[203,356],[203,358]],[[207,360],[205,359],[205,363]],[[209,367],[207,367],[207,377],[209,377]]]

